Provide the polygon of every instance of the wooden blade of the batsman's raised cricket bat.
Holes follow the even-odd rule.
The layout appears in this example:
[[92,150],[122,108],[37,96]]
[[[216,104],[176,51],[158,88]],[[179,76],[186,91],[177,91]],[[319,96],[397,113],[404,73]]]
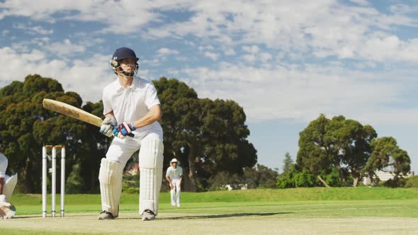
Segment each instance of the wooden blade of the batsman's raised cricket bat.
[[42,103],[44,108],[55,111],[57,113],[62,113],[63,115],[73,117],[83,122],[88,122],[91,125],[95,125],[96,127],[101,127],[102,120],[100,117],[92,115],[91,113],[87,113],[86,111],[76,108],[72,105],[47,98],[44,98]]

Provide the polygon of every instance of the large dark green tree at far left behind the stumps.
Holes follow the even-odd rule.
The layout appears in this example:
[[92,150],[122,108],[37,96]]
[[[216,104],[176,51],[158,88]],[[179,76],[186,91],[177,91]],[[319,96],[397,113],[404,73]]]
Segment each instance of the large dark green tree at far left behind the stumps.
[[[80,107],[80,96],[64,92],[54,79],[38,74],[25,81],[13,81],[0,90],[0,130],[4,137],[4,154],[9,157],[9,171],[19,173],[18,188],[26,193],[40,192],[43,144],[65,144],[67,169],[72,169],[80,151],[79,139],[86,125],[64,115],[45,110],[43,98],[65,101]],[[67,171],[68,172],[68,171]]]

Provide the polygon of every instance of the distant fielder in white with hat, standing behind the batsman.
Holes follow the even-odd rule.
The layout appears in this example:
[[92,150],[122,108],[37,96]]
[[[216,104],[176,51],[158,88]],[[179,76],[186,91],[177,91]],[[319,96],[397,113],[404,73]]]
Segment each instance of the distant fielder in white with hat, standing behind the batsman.
[[170,184],[171,206],[180,207],[181,179],[183,178],[183,168],[179,166],[177,159],[171,159],[169,168],[166,172],[166,180]]

